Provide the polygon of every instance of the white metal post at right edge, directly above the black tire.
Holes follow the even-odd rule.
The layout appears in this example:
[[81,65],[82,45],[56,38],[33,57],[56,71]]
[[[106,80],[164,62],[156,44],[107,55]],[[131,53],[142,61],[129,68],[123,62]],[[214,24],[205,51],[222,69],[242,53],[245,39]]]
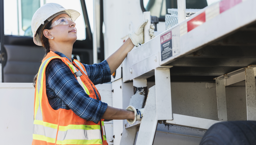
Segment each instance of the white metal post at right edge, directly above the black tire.
[[245,68],[247,120],[256,120],[255,69]]

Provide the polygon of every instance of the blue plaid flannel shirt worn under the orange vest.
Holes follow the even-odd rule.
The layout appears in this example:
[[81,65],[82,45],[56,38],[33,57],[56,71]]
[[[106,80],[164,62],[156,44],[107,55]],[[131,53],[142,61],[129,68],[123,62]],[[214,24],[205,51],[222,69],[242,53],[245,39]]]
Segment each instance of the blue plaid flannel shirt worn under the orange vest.
[[[61,57],[66,57],[60,52],[54,53]],[[73,60],[72,58],[72,62]],[[106,60],[99,64],[83,65],[94,85],[110,82],[111,73]],[[99,100],[95,90],[97,100],[90,98],[64,62],[60,59],[51,60],[46,67],[45,76],[46,94],[49,104],[54,110],[59,108],[71,109],[83,119],[94,123],[100,121],[107,109],[107,103]]]

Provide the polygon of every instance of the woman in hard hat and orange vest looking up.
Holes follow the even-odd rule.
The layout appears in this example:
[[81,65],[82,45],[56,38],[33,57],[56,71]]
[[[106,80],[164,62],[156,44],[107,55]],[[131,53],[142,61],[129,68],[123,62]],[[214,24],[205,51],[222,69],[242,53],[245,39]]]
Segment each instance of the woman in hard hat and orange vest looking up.
[[[43,46],[46,56],[35,76],[33,145],[107,145],[104,119],[127,119],[130,123],[143,115],[132,106],[127,110],[107,106],[94,85],[110,82],[134,46],[144,42],[141,25],[107,60],[85,65],[71,58],[76,41],[79,13],[59,4],[40,7],[31,22],[33,40]],[[154,26],[150,29],[154,37]],[[131,110],[131,111],[128,111]]]

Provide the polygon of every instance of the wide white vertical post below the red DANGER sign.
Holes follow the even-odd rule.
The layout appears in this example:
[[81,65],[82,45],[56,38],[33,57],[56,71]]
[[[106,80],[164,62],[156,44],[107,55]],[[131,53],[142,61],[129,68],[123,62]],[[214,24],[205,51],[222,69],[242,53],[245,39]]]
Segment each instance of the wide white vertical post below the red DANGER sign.
[[157,120],[172,120],[170,68],[155,69]]

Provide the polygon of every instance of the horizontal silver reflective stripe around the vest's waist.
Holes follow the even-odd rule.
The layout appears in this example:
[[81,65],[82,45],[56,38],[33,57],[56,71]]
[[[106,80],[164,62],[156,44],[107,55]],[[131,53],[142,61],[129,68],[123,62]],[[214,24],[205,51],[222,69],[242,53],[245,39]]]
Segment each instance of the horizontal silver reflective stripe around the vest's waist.
[[[57,129],[45,127],[43,125],[34,124],[33,134],[39,134],[55,139]],[[81,139],[92,140],[102,139],[100,129],[84,130],[84,129],[69,129],[67,131],[58,131],[57,140],[63,141],[66,139]]]

